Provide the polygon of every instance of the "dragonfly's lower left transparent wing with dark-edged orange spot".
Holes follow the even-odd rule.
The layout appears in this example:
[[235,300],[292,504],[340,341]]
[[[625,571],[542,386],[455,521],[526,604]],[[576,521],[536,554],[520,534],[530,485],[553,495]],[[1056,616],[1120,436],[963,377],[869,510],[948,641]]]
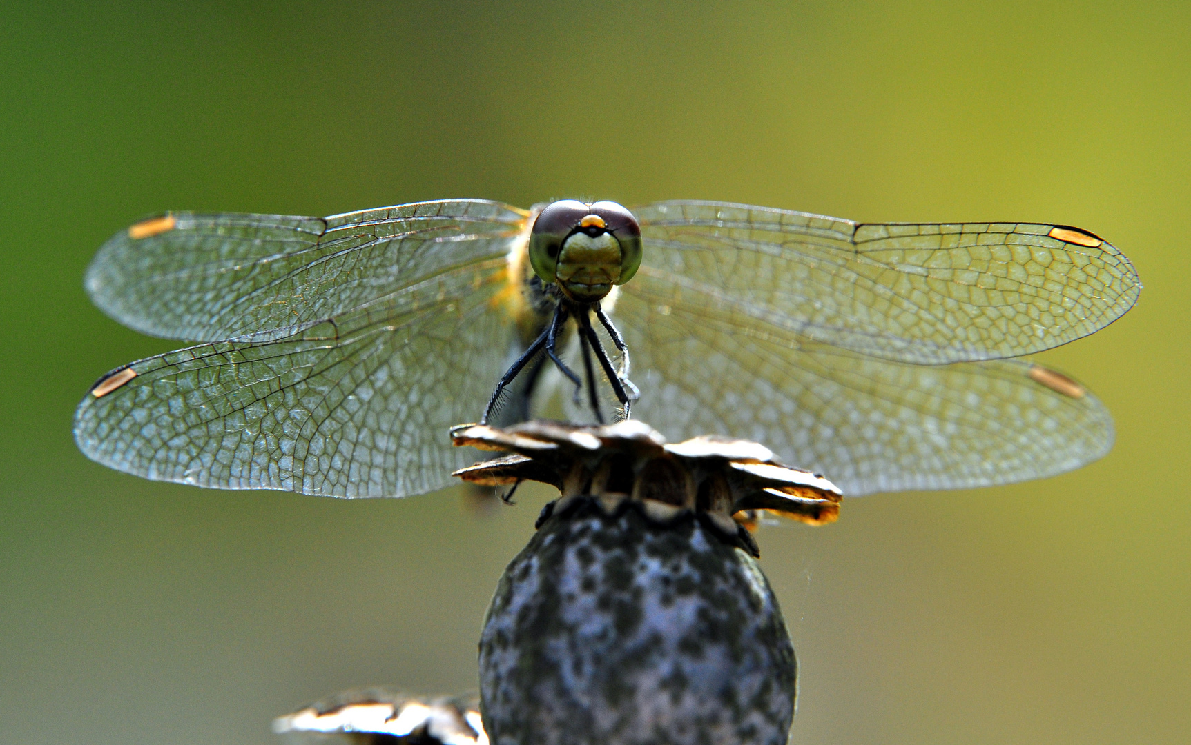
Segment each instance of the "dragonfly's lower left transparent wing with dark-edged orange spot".
[[[406,496],[475,459],[474,420],[504,370],[504,256],[472,262],[273,339],[150,357],[75,413],[91,458],[160,481],[330,496]],[[121,384],[123,383],[123,384]],[[96,395],[98,394],[98,395]]]

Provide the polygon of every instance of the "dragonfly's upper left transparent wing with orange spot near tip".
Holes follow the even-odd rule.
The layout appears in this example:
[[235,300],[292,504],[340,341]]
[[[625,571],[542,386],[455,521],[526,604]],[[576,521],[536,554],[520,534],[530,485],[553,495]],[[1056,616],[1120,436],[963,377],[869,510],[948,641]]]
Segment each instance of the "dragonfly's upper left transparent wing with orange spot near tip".
[[113,236],[86,287],[105,313],[143,333],[283,338],[504,251],[525,215],[484,200],[330,218],[176,212]]

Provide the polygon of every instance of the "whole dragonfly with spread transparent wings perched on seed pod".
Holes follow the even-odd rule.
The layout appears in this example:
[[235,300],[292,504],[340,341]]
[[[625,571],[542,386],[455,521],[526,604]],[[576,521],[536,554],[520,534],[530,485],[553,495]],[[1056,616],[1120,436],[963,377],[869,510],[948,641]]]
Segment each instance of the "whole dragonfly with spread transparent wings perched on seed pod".
[[[481,408],[517,421],[551,375],[581,382],[578,344],[587,401],[562,396],[572,415],[615,399],[673,439],[766,443],[849,495],[1053,476],[1112,445],[1096,396],[1018,359],[1136,302],[1129,259],[1091,232],[565,202],[136,223],[86,288],[116,320],[191,345],[102,376],[75,439],[151,480],[422,494],[474,459],[453,425]],[[559,259],[572,248],[579,269]]]

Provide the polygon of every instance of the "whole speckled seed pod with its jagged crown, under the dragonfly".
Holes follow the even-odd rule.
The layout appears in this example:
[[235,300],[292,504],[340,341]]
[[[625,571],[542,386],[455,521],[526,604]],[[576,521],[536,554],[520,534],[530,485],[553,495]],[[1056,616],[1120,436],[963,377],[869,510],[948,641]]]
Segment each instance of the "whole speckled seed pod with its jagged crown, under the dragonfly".
[[784,505],[828,521],[835,487],[752,443],[665,445],[637,422],[472,427],[456,439],[515,452],[463,469],[470,481],[562,490],[485,619],[492,743],[786,743],[794,650],[756,544],[731,515]]

